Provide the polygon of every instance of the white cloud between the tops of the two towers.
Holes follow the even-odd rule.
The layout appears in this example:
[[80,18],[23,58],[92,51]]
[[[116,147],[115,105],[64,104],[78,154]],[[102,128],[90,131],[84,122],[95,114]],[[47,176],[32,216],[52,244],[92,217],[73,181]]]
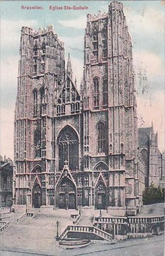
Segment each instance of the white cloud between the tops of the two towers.
[[59,20],[58,21],[58,23],[63,25],[64,27],[78,28],[78,29],[85,29],[86,28],[86,22],[87,22],[87,16],[86,15],[82,15],[77,19]]

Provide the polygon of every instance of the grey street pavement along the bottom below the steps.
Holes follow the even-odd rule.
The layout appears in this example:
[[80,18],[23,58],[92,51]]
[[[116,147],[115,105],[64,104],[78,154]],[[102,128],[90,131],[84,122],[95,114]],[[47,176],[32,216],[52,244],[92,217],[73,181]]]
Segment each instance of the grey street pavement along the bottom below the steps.
[[[164,256],[164,235],[136,238],[114,245],[91,244],[82,249],[64,250],[58,256]],[[0,251],[0,256],[39,256],[39,254]]]

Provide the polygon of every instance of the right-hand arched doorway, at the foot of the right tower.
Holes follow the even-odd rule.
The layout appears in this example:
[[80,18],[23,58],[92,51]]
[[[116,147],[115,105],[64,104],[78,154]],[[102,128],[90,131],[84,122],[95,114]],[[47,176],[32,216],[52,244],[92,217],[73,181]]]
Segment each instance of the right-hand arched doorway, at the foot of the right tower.
[[96,209],[106,209],[106,187],[99,182],[95,188],[95,207]]

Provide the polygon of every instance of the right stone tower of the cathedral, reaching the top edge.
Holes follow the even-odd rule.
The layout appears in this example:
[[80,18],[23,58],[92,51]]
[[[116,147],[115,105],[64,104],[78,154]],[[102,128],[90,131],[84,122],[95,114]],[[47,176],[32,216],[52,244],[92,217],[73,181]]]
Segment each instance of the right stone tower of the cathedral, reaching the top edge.
[[87,16],[83,114],[87,165],[94,169],[99,159],[108,167],[106,200],[116,210],[142,203],[136,107],[131,38],[123,5],[113,1],[108,13]]

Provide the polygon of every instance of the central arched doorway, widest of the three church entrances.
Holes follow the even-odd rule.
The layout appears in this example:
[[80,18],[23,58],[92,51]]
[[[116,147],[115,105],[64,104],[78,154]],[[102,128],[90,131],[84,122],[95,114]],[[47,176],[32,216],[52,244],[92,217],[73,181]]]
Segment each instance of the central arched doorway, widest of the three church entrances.
[[69,178],[64,178],[56,189],[56,206],[63,209],[76,209],[76,188]]

